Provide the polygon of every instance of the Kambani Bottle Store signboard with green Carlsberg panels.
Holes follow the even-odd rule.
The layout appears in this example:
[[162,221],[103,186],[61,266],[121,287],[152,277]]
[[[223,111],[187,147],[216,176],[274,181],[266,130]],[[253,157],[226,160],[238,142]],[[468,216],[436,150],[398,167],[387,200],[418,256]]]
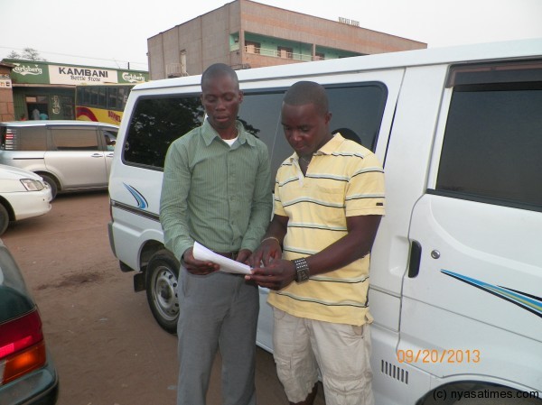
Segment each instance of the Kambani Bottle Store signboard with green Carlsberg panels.
[[27,60],[4,60],[13,64],[14,84],[101,85],[107,83],[143,83],[148,72],[142,70],[103,69],[89,66],[58,65]]

